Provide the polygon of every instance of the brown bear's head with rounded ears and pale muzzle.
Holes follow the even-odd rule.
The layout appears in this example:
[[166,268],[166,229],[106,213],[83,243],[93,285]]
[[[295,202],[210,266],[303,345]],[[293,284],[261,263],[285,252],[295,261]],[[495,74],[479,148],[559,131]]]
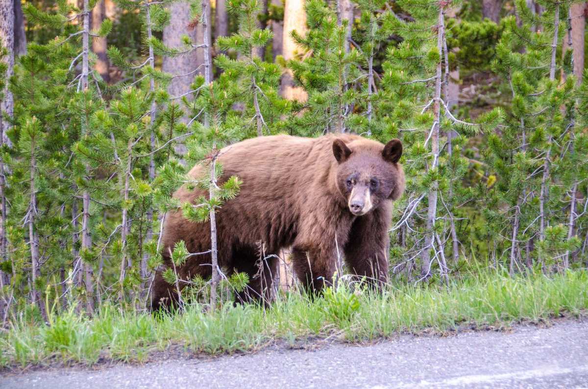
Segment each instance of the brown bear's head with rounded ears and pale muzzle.
[[405,177],[398,163],[402,156],[400,140],[382,145],[367,139],[349,143],[335,139],[333,155],[338,162],[336,185],[356,216],[376,209],[384,200],[402,196]]

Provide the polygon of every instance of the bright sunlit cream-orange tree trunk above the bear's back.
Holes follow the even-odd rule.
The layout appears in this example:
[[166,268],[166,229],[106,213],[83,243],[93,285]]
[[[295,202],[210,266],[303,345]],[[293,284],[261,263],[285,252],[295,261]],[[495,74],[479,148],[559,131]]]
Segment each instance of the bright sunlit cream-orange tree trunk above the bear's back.
[[[284,29],[283,29],[283,41],[282,50],[283,56],[286,61],[295,59],[299,54],[300,48],[290,33],[292,31],[298,32],[300,35],[305,35],[306,28],[306,11],[304,9],[304,3],[300,0],[286,0],[284,4]],[[308,99],[306,91],[299,86],[294,85],[294,79],[292,71],[286,70],[282,75],[280,93],[283,98],[289,100],[299,100],[301,102]]]

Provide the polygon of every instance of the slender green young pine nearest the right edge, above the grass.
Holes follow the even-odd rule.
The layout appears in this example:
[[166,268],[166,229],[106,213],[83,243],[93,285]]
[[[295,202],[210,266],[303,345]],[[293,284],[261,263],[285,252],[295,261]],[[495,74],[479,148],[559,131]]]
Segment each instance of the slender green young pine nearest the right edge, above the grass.
[[[511,273],[520,269],[519,242],[538,240],[534,252],[534,243],[527,244],[525,262],[531,266],[534,256],[543,269],[562,256],[563,267],[567,267],[569,251],[578,245],[572,239],[577,186],[574,188],[573,179],[562,170],[570,166],[566,160],[574,160],[573,146],[568,147],[574,144],[577,132],[574,81],[560,83],[556,79],[557,68],[562,66],[556,55],[563,35],[560,19],[569,4],[542,2],[542,15],[530,12],[522,1],[516,5],[523,24],[517,25],[514,17],[506,20],[493,63],[493,69],[509,81],[512,110],[503,139],[496,135],[489,139],[490,165],[502,178],[495,195],[510,206],[506,214],[494,216],[513,220],[509,234]],[[575,162],[582,166],[579,160]],[[573,200],[566,201],[573,204],[568,223],[556,212],[564,200],[564,186],[574,189]],[[559,224],[568,224],[569,229]],[[562,239],[562,234],[567,239]],[[560,255],[562,250],[565,254]]]

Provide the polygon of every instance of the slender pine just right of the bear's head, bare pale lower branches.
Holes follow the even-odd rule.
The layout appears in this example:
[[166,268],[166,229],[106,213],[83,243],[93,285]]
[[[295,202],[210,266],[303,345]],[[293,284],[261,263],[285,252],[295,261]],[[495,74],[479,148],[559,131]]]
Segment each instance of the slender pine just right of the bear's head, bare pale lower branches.
[[[402,135],[406,150],[403,155],[407,162],[405,171],[411,178],[407,182],[407,204],[392,229],[401,232],[400,247],[393,248],[393,254],[405,253],[409,273],[413,261],[420,257],[420,280],[431,275],[433,263],[447,279],[447,222],[453,219],[455,209],[447,207],[446,199],[448,193],[452,193],[452,197],[460,193],[457,183],[469,163],[459,155],[460,145],[465,141],[461,134],[495,128],[501,113],[493,110],[480,115],[476,123],[467,123],[455,118],[447,107],[442,86],[447,83],[443,68],[446,75],[449,72],[445,31],[445,10],[449,4],[409,0],[397,2],[397,5],[409,13],[413,21],[387,12],[383,22],[386,32],[402,38],[397,47],[388,49],[387,61],[382,65],[382,87],[392,111],[385,132]],[[456,6],[455,2],[451,5]],[[442,136],[453,132],[458,136],[451,137],[452,154],[448,155],[442,147]],[[467,191],[460,197],[466,202]],[[423,206],[425,198],[426,207]],[[424,226],[419,219],[425,220]],[[405,228],[412,232],[410,248]]]

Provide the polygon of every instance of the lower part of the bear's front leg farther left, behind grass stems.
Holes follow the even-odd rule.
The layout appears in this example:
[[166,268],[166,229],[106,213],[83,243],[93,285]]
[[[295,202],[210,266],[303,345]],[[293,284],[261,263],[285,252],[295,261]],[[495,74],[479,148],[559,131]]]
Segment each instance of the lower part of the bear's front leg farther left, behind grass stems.
[[319,293],[323,287],[332,286],[337,269],[335,249],[303,249],[293,247],[292,265],[296,276],[307,291]]

